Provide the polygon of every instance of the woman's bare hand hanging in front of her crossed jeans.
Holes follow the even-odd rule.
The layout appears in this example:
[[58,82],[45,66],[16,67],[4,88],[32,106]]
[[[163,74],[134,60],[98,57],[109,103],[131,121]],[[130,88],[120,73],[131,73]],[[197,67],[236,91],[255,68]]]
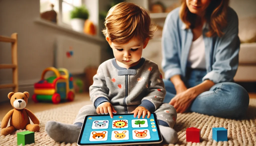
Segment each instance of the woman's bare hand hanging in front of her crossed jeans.
[[176,94],[169,104],[173,105],[177,113],[184,113],[196,96],[194,88],[189,88],[186,91]]

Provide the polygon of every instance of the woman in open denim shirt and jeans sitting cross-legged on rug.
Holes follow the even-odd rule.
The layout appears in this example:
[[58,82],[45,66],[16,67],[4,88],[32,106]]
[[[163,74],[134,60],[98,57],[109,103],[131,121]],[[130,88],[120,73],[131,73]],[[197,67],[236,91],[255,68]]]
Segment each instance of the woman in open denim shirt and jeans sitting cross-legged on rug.
[[229,0],[183,0],[165,20],[164,103],[185,111],[236,118],[249,95],[233,83],[238,68],[238,16]]

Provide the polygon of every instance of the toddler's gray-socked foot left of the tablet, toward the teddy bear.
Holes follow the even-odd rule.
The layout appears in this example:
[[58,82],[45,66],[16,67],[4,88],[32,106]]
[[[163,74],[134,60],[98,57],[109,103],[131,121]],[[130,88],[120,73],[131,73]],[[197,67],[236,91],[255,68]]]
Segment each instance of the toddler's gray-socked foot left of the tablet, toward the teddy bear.
[[46,133],[56,142],[77,142],[81,126],[48,121],[45,124]]

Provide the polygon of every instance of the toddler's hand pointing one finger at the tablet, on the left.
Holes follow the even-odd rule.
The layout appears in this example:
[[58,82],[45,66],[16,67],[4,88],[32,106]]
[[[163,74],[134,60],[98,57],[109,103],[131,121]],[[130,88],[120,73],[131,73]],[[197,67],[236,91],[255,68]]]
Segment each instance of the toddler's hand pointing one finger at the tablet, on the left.
[[116,114],[117,111],[115,111],[114,107],[109,102],[103,102],[101,103],[97,109],[97,114],[108,114],[110,115],[110,118],[113,118],[113,113]]

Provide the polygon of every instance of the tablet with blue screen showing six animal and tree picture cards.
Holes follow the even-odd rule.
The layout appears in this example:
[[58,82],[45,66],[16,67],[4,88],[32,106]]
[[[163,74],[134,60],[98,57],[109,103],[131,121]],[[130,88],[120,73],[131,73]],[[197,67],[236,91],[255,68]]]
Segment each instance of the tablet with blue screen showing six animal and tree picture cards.
[[77,145],[153,144],[163,141],[156,114],[134,118],[133,114],[88,115],[85,117]]

